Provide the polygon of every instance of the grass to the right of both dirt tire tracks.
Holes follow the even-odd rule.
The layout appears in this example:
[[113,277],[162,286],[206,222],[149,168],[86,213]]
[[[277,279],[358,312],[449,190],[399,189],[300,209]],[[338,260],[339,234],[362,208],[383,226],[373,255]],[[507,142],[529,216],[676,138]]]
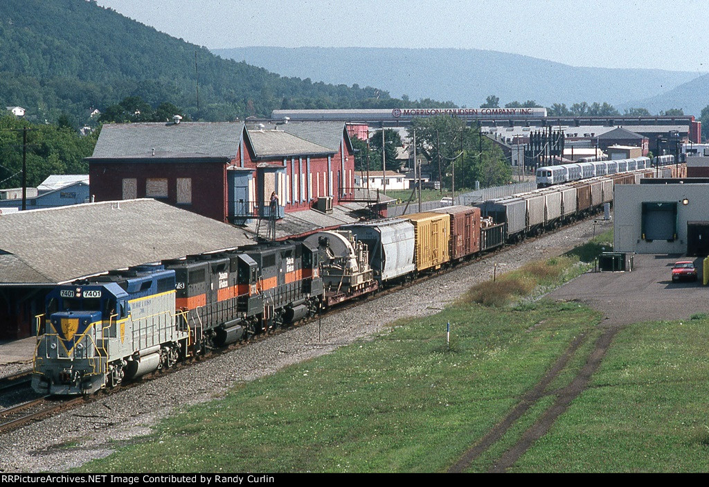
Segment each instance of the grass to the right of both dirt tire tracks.
[[709,470],[709,320],[619,332],[588,390],[514,471]]

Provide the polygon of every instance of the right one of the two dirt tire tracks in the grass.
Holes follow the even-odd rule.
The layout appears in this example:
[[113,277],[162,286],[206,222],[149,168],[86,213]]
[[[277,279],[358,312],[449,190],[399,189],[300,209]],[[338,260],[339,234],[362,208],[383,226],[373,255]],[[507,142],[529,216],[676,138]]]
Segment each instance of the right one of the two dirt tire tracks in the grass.
[[549,432],[549,429],[554,425],[557,418],[569,408],[571,401],[574,401],[576,397],[586,390],[588,382],[591,381],[591,376],[596,373],[598,366],[601,365],[603,357],[605,357],[605,352],[608,351],[608,347],[610,347],[610,344],[613,342],[615,334],[623,330],[623,328],[625,328],[623,325],[613,326],[608,328],[601,337],[598,337],[596,347],[593,348],[593,352],[588,356],[588,360],[581,371],[579,371],[579,374],[574,377],[568,386],[558,392],[558,397],[557,400],[554,401],[554,404],[545,411],[534,425],[524,432],[520,440],[518,440],[512,448],[508,449],[508,451],[495,462],[489,470],[490,472],[502,473],[507,471],[510,466],[513,466],[515,462],[525,454],[527,449],[529,449],[534,442]]

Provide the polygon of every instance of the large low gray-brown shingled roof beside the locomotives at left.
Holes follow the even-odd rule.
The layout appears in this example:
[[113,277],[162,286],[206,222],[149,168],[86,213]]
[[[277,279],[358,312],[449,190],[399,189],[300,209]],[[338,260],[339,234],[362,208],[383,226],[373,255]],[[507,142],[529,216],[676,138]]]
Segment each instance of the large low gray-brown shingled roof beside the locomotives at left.
[[0,282],[62,282],[252,243],[244,230],[152,199],[0,215]]

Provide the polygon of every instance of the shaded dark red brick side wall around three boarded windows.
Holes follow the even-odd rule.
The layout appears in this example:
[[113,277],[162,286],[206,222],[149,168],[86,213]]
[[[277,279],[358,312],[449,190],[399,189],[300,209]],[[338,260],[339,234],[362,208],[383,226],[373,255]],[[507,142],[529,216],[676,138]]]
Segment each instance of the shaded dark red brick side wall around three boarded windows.
[[[178,208],[226,221],[227,187],[226,164],[221,162],[150,162],[89,164],[90,192],[96,201],[123,199],[123,179],[137,179],[138,198],[145,198],[148,178],[167,179],[167,198],[156,198]],[[191,178],[192,203],[177,204],[177,178]]]

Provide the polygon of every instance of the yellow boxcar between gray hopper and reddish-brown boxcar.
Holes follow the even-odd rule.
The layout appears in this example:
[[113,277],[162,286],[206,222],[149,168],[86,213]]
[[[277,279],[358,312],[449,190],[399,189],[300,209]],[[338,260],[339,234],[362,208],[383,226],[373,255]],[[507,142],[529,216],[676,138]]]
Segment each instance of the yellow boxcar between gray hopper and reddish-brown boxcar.
[[438,269],[450,260],[450,215],[414,213],[407,215],[415,230],[414,262],[416,270]]

